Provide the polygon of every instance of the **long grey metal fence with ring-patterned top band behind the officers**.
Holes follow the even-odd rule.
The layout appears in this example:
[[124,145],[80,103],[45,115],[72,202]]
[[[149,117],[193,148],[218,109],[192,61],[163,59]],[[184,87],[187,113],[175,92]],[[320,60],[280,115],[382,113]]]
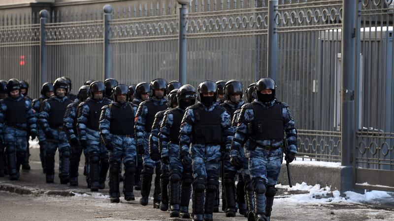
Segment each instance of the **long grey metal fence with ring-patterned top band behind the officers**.
[[[190,3],[185,26],[187,83],[197,86],[203,80],[237,79],[246,87],[271,75],[266,73],[268,60],[276,60],[278,99],[289,103],[296,119],[302,159],[343,162],[342,148],[354,151],[351,161],[360,187],[365,182],[376,186],[379,176],[392,176],[393,0],[354,1],[359,10],[354,15],[357,28],[352,38],[357,41],[354,53],[359,56],[355,61],[354,133],[349,134],[344,134],[346,125],[341,125],[341,83],[343,76],[351,74],[341,73],[345,65],[341,51],[344,2],[280,0],[270,11],[268,4],[272,3],[275,1]],[[74,85],[103,80],[108,74],[128,84],[159,77],[176,80],[179,7],[175,0],[154,0],[107,13],[58,11],[51,12],[46,22],[41,18],[41,25],[37,15],[3,16],[1,79],[27,80],[34,97],[43,79],[40,72],[47,72],[47,81],[68,76]],[[277,45],[268,45],[272,37],[277,38]],[[273,48],[272,54],[268,54],[268,46]],[[341,137],[353,139],[354,146],[344,146]]]

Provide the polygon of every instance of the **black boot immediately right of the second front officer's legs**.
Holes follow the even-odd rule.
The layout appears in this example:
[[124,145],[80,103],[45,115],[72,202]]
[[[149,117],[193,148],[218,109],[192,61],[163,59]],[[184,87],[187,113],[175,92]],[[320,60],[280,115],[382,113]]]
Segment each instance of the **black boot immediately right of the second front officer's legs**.
[[232,171],[226,171],[224,174],[224,186],[226,194],[226,217],[235,217],[235,173]]

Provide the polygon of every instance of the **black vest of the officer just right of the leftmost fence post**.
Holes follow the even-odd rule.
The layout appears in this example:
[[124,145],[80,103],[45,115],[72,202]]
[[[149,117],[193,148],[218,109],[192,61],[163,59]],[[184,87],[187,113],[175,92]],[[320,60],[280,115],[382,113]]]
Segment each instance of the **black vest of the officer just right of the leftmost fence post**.
[[70,99],[64,102],[58,102],[55,99],[48,99],[47,102],[51,106],[48,124],[51,128],[58,128],[63,125],[63,117],[65,116],[67,106],[72,103]]

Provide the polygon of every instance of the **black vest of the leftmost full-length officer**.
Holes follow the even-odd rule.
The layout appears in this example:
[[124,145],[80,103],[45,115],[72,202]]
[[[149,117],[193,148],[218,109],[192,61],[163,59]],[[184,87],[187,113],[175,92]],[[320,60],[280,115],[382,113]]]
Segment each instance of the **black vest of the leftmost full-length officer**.
[[12,98],[5,98],[4,103],[7,105],[5,112],[5,123],[8,126],[27,123],[27,111],[25,99],[15,101]]

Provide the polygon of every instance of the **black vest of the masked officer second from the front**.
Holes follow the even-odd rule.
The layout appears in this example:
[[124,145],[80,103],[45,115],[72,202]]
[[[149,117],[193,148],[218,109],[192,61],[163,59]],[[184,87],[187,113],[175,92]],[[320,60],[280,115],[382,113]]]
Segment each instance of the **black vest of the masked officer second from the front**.
[[222,142],[222,125],[220,116],[223,113],[220,105],[213,111],[197,104],[193,107],[195,117],[193,140],[196,144],[219,144]]

